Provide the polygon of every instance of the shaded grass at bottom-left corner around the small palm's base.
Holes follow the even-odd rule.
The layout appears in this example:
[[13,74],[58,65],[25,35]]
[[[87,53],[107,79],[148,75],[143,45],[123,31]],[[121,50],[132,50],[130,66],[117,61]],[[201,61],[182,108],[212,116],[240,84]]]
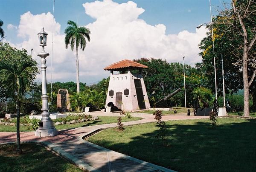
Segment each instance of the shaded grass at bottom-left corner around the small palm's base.
[[0,147],[1,172],[82,172],[77,166],[36,144],[22,144],[23,154],[16,154],[17,146]]

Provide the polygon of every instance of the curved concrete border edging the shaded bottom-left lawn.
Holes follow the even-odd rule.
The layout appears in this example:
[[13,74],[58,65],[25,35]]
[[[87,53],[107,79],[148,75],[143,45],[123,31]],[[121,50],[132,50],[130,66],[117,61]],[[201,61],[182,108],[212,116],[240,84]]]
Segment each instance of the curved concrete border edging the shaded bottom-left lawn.
[[[8,144],[16,144],[16,143],[17,142],[0,143],[0,146],[8,145]],[[76,158],[74,155],[71,155],[70,153],[65,152],[64,150],[62,150],[61,148],[59,148],[58,146],[55,146],[54,144],[52,144],[50,142],[47,142],[47,141],[43,141],[43,142],[39,142],[39,141],[21,141],[20,143],[22,143],[22,144],[26,144],[26,143],[28,143],[28,144],[39,144],[41,146],[44,146],[44,147],[50,149],[52,152],[54,152],[55,154],[57,154],[61,158],[64,158],[65,160],[69,161],[70,163],[78,166],[80,169],[87,170],[89,172],[100,172],[96,168],[90,166],[89,164],[84,163],[83,161],[79,160],[79,158]]]

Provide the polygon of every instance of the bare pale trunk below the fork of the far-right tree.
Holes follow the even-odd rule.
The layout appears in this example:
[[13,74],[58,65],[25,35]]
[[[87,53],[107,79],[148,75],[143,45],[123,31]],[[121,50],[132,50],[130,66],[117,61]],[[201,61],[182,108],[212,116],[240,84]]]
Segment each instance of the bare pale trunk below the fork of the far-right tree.
[[244,46],[244,54],[243,54],[244,116],[249,116],[250,114],[247,57],[248,57],[247,48]]

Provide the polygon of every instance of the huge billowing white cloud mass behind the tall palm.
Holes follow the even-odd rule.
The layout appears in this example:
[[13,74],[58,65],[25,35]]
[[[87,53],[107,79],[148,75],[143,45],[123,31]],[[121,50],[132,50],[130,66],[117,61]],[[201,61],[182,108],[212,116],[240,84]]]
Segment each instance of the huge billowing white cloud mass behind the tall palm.
[[[200,28],[196,33],[181,31],[179,34],[166,34],[163,24],[149,25],[138,19],[145,10],[137,4],[114,3],[111,0],[84,3],[85,13],[95,22],[86,25],[90,29],[91,41],[87,42],[84,51],[79,50],[79,70],[81,82],[95,82],[109,76],[103,68],[122,59],[161,58],[168,62],[182,62],[193,65],[200,62],[198,44],[205,37],[206,29]],[[86,15],[84,14],[84,15]],[[20,17],[18,37],[24,41],[16,45],[25,48],[40,62],[38,54],[37,33],[41,27],[48,33],[48,44],[45,48],[50,53],[47,57],[47,80],[50,81],[50,59],[52,42],[52,14],[33,15],[29,11]],[[173,26],[175,27],[175,25]],[[60,33],[61,25],[54,19],[53,44],[53,81],[76,81],[75,51],[64,46],[64,34]]]

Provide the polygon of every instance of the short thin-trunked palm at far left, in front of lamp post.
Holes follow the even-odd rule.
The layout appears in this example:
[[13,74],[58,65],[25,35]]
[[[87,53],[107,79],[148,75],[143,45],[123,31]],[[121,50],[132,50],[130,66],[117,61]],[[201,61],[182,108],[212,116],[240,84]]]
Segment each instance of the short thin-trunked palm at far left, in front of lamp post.
[[31,59],[0,61],[0,70],[7,70],[9,75],[7,81],[9,83],[9,93],[16,101],[17,107],[17,152],[22,153],[20,147],[20,101],[24,97],[29,85],[31,84],[31,74],[35,75],[38,70]]

